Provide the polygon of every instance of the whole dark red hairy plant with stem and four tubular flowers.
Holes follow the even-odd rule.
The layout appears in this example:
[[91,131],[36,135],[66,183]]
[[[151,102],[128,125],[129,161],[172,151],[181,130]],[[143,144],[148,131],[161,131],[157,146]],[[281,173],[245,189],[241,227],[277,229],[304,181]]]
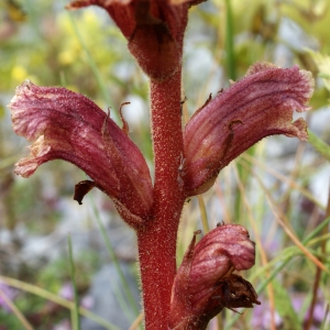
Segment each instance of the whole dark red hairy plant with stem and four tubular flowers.
[[222,224],[196,243],[179,268],[176,241],[185,200],[207,191],[219,172],[261,139],[285,134],[307,140],[302,119],[314,88],[298,66],[253,65],[245,77],[210,97],[187,124],[182,122],[182,58],[188,10],[200,0],[75,0],[76,9],[102,7],[128,41],[150,79],[154,184],[146,162],[129,138],[88,98],[25,81],[10,103],[13,130],[32,142],[15,173],[29,177],[48,161],[80,167],[90,180],[76,185],[75,199],[97,187],[135,230],[145,329],[205,329],[223,308],[260,304],[235,271],[254,264],[246,229]]

